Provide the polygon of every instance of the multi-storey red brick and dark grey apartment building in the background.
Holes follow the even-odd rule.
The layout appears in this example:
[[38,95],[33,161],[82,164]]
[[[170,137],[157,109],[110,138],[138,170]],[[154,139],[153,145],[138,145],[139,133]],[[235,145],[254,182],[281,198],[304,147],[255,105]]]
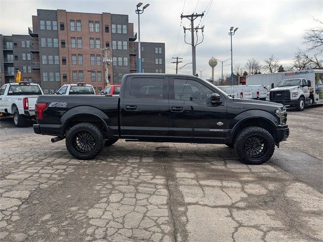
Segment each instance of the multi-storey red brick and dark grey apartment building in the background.
[[[14,76],[8,76],[8,70],[12,74],[18,69],[22,71],[22,78],[26,76],[30,80],[30,76],[33,82],[39,83],[45,94],[77,82],[89,83],[99,92],[106,85],[103,48],[109,48],[112,61],[108,75],[111,84],[120,84],[124,74],[138,72],[137,34],[128,15],[38,9],[37,16],[32,16],[28,33],[29,36],[13,35],[11,41],[9,36],[0,35],[0,78],[5,80],[2,84],[14,80]],[[28,39],[26,49],[20,47],[23,37],[16,36],[24,36],[24,41]],[[8,49],[7,42],[13,50]],[[24,50],[29,52],[30,59],[22,59]],[[5,62],[10,51],[18,54],[19,62]],[[141,42],[141,56],[143,72],[165,73],[164,43]],[[27,73],[24,66],[28,67]],[[28,76],[30,70],[32,75]]]

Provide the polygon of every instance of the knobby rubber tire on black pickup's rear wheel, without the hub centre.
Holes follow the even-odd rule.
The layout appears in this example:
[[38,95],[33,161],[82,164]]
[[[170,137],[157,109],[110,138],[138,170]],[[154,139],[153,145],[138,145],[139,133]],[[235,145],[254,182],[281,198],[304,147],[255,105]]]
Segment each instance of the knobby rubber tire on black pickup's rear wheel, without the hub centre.
[[[84,131],[84,133],[89,133],[93,140],[93,148],[88,152],[81,152],[78,150],[77,147],[80,147],[77,145],[77,139],[76,137],[80,132]],[[95,156],[100,153],[100,151],[104,147],[105,139],[102,135],[102,132],[98,129],[97,126],[91,124],[91,123],[80,123],[75,126],[73,126],[66,134],[66,148],[70,152],[71,155],[73,155],[75,158],[79,160],[89,160],[94,158]]]

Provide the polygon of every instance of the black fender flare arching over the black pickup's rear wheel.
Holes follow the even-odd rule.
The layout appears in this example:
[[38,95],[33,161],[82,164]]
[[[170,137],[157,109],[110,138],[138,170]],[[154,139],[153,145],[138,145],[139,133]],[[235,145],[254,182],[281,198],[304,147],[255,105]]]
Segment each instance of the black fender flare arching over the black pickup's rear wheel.
[[110,138],[110,132],[109,132],[109,126],[108,126],[108,124],[110,123],[110,118],[104,112],[102,112],[100,109],[98,109],[96,107],[84,106],[84,105],[74,107],[62,115],[62,117],[61,117],[62,137],[65,137],[66,126],[69,123],[69,121],[71,120],[71,118],[73,118],[74,116],[79,115],[79,114],[89,114],[89,115],[93,115],[93,116],[98,117],[106,129],[107,136]]

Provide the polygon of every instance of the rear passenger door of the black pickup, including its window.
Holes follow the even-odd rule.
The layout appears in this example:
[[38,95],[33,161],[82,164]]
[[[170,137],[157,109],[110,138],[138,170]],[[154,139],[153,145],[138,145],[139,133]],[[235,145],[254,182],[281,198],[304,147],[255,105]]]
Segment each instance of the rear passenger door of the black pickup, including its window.
[[169,123],[168,77],[127,79],[121,99],[121,136],[167,138]]

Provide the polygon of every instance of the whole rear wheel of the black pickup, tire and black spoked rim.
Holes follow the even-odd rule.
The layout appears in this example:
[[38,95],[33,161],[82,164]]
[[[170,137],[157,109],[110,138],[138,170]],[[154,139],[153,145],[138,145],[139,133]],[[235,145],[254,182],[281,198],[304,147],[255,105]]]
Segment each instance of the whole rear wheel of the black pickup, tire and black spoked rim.
[[66,148],[80,160],[94,158],[104,147],[104,141],[101,131],[91,123],[77,124],[66,134]]

